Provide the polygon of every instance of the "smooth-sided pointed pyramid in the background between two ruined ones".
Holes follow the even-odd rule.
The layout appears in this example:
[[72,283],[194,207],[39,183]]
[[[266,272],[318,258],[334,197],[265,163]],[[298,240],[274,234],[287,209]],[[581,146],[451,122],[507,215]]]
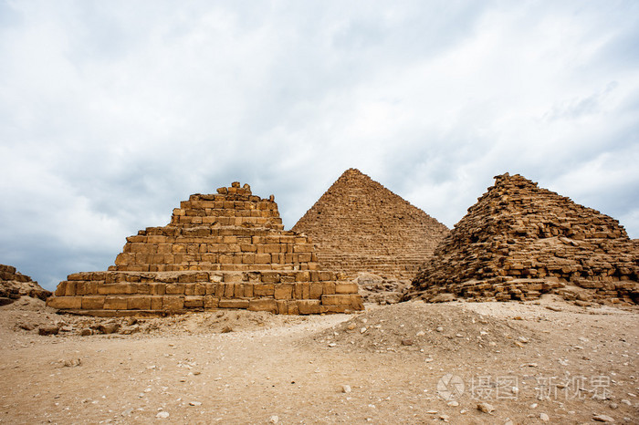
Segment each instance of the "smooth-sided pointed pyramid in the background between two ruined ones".
[[448,229],[361,171],[344,171],[293,226],[313,238],[319,264],[353,277],[412,279]]

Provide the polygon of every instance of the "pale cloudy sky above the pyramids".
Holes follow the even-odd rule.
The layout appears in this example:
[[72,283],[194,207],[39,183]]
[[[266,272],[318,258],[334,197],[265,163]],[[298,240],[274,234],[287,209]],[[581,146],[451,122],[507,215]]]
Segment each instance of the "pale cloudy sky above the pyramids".
[[639,2],[0,0],[0,263],[51,289],[231,181],[449,227],[519,172],[639,238]]

